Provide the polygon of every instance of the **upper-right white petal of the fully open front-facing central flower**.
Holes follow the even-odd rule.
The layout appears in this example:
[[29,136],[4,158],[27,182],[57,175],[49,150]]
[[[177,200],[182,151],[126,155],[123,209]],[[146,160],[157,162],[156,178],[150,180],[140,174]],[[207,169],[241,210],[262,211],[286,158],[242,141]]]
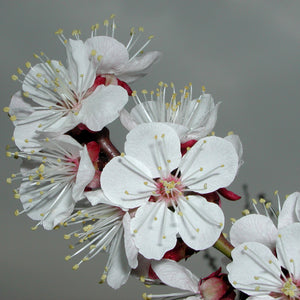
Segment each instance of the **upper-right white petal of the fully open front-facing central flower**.
[[228,186],[237,169],[238,156],[232,144],[214,136],[199,140],[180,167],[183,183],[203,194]]

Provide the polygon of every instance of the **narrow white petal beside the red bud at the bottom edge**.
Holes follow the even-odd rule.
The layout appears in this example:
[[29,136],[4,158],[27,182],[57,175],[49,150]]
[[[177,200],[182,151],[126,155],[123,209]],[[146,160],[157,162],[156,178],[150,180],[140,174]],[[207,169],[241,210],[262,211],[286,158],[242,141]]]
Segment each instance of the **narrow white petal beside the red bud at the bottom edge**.
[[162,259],[152,261],[151,266],[158,278],[166,285],[194,293],[198,292],[199,279],[179,263]]

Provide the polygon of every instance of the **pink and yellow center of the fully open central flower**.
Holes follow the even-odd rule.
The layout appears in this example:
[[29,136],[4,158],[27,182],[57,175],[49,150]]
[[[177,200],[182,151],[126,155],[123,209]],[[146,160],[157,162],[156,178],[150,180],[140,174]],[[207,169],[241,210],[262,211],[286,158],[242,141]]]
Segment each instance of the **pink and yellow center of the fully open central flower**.
[[180,178],[169,175],[157,180],[155,192],[158,200],[164,200],[167,203],[174,201],[176,204],[178,197],[182,195],[183,188]]

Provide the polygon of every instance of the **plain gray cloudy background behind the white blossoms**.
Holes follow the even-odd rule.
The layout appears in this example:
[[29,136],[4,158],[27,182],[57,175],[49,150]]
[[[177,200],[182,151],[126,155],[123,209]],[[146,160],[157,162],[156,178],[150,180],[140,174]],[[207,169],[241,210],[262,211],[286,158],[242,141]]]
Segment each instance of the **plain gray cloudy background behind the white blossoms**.
[[[245,164],[234,191],[243,194],[248,184],[250,197],[265,192],[272,198],[278,189],[284,198],[299,189],[299,1],[1,0],[2,106],[20,88],[10,76],[27,60],[34,62],[33,52],[64,61],[54,31],[80,28],[87,38],[90,25],[102,24],[112,13],[119,40],[127,42],[131,26],[144,26],[145,37],[155,35],[148,50],[164,53],[134,89],[151,90],[161,80],[178,89],[192,82],[195,96],[205,85],[216,102],[222,101],[216,134],[233,130],[244,145]],[[18,162],[4,155],[13,127],[4,113],[0,121],[0,299],[141,299],[146,289],[135,279],[118,291],[97,284],[105,255],[74,272],[64,261],[70,253],[64,232],[32,232],[29,218],[14,216],[21,206],[5,179],[17,172]],[[125,132],[119,123],[111,126],[120,148]],[[243,205],[224,201],[227,224],[241,215]],[[200,255],[189,262],[198,276],[209,272],[206,264]]]

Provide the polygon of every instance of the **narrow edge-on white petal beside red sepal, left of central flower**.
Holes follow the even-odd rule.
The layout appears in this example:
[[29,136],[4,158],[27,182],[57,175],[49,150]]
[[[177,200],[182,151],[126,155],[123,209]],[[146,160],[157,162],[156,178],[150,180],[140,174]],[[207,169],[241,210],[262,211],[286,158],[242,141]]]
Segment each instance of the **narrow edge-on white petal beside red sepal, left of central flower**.
[[73,187],[73,198],[79,201],[84,198],[84,189],[92,181],[95,175],[95,168],[90,159],[86,145],[80,153],[80,163],[76,175],[76,181]]

